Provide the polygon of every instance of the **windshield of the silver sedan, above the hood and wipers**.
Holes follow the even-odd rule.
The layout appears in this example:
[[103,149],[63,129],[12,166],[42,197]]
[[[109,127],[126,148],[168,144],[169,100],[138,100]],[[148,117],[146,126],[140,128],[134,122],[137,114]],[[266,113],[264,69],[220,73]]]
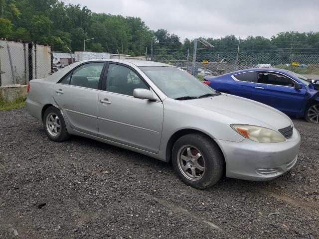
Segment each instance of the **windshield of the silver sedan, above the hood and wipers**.
[[167,97],[175,100],[191,100],[220,95],[219,92],[177,67],[143,66],[140,69]]

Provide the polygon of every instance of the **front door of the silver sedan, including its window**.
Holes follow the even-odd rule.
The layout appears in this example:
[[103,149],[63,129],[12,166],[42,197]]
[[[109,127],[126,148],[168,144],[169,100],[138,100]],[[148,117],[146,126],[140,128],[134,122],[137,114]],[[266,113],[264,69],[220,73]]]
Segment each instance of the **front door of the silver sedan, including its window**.
[[163,104],[134,98],[136,88],[150,89],[134,69],[123,64],[109,64],[106,90],[99,95],[99,136],[158,153]]

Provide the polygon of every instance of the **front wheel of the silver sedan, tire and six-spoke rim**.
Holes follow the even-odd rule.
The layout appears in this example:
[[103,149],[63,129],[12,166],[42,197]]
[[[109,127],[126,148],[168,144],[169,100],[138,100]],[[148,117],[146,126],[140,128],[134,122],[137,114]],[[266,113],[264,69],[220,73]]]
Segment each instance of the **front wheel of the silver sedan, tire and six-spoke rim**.
[[172,164],[178,177],[197,189],[216,184],[224,169],[219,147],[211,138],[197,133],[186,134],[175,142]]

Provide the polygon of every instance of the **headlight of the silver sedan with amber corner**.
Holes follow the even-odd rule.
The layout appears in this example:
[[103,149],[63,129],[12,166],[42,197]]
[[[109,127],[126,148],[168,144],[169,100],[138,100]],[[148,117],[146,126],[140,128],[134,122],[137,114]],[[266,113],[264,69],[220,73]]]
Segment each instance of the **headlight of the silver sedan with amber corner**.
[[259,143],[279,143],[286,141],[284,135],[270,128],[247,124],[231,124],[230,126],[244,137]]

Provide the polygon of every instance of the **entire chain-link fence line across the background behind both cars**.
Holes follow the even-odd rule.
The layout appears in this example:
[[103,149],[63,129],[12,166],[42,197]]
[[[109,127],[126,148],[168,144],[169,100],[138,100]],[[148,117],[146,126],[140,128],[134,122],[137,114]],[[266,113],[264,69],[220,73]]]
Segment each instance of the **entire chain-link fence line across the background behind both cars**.
[[[79,58],[79,59],[77,59]],[[319,79],[319,53],[249,52],[197,50],[146,51],[145,56],[99,52],[52,52],[51,46],[0,38],[0,86],[26,85],[32,79],[45,78],[75,61],[86,59],[153,60],[180,67],[196,76],[214,76],[255,67],[274,67]]]

